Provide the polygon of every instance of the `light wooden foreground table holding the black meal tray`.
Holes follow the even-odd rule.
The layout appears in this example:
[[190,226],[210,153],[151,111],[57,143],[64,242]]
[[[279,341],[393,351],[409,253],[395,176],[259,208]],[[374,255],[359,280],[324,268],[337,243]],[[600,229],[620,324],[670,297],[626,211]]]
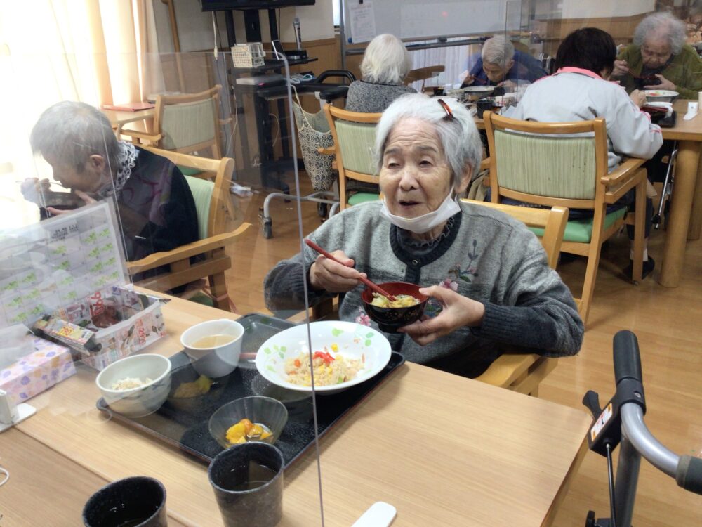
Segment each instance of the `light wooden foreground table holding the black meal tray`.
[[[144,352],[170,356],[190,325],[237,318],[181,299],[162,309],[167,336]],[[95,375],[78,365],[29,401],[36,415],[0,434],[0,466],[11,474],[0,525],[79,525],[91,493],[138,474],[164,483],[169,526],[222,525],[206,465],[97,410]],[[405,363],[285,470],[279,525],[321,525],[320,488],[328,526],[350,526],[377,501],[397,508],[397,527],[550,525],[590,421],[583,410]]]

